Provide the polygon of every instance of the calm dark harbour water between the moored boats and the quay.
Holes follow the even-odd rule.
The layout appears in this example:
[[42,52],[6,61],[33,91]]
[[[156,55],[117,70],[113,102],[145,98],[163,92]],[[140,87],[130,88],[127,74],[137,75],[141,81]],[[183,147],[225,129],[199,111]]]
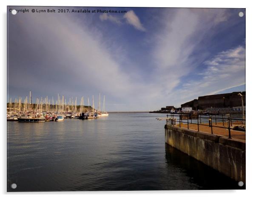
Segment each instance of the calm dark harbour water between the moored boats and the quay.
[[236,181],[165,145],[165,122],[155,119],[160,116],[8,122],[8,191],[239,189]]

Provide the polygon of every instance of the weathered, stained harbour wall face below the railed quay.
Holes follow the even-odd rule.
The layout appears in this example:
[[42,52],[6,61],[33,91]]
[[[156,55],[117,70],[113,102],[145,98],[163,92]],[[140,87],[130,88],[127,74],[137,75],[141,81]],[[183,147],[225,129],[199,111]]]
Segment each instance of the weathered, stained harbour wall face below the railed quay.
[[245,140],[165,125],[165,143],[245,183]]

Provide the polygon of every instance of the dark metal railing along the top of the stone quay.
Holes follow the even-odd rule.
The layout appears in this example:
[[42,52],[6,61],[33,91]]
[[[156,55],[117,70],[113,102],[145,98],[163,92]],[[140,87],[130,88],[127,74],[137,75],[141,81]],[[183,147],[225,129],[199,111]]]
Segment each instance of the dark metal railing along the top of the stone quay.
[[[168,116],[171,116],[170,119],[167,119],[166,120],[166,125],[172,125],[172,126],[176,126],[176,122],[179,123],[179,127],[181,127],[181,123],[185,123],[187,124],[187,127],[189,129],[189,124],[196,124],[197,125],[197,131],[199,132],[199,126],[202,125],[202,126],[209,126],[211,128],[211,134],[213,134],[213,128],[216,127],[216,128],[224,128],[224,129],[228,129],[228,138],[231,139],[231,128],[232,127],[232,120],[233,121],[242,121],[243,124],[245,124],[245,121],[246,119],[237,119],[237,118],[232,118],[231,117],[231,114],[226,114],[226,115],[222,115],[222,118],[217,118],[216,115],[215,117],[213,116],[202,116],[201,114],[200,115],[196,115],[196,119],[197,119],[197,123],[193,123],[192,120],[194,117],[195,118],[195,115],[193,114],[179,114],[179,115],[174,115],[174,114],[171,114],[171,115],[168,115]],[[174,119],[174,117],[179,117],[179,120],[177,120],[176,118]],[[183,118],[185,117],[185,121],[184,122]],[[202,124],[202,119],[208,119],[208,122],[209,124]],[[190,122],[189,122],[190,120]],[[215,121],[215,125],[213,125],[213,120]],[[217,125],[217,121],[221,121],[222,122],[222,125],[223,126],[218,126]],[[221,123],[219,122],[219,123]],[[225,127],[225,123],[227,123],[227,127]]]

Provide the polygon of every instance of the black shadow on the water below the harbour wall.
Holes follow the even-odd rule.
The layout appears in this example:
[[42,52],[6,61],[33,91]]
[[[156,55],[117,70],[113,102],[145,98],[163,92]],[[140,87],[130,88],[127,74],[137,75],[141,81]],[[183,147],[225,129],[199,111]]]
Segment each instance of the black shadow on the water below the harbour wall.
[[[238,182],[203,164],[195,158],[165,144],[165,157],[168,168],[179,167],[186,173],[199,190],[245,190]],[[185,189],[184,189],[185,190]]]

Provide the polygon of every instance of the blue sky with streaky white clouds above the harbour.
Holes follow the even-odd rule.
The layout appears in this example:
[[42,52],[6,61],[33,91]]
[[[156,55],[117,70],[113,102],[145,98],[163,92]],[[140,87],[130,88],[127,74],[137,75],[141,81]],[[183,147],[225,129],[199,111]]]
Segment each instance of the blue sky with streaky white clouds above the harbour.
[[245,91],[245,9],[59,8],[9,6],[8,101],[100,93],[108,111],[148,111]]

